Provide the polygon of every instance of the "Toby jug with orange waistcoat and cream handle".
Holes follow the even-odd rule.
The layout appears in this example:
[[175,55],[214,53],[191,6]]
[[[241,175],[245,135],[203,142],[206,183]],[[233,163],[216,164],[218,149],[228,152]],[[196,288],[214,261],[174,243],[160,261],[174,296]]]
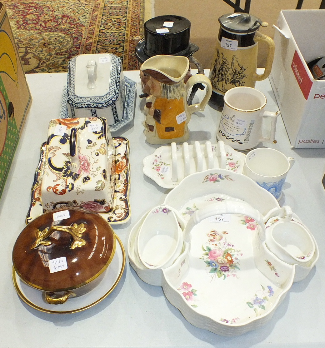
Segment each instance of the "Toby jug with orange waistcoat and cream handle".
[[[149,76],[150,96],[146,98],[143,122],[149,144],[185,142],[189,139],[191,114],[203,111],[212,93],[210,80],[203,74],[189,78],[190,62],[184,56],[157,55],[146,60],[140,70]],[[188,105],[187,95],[195,84],[204,84],[201,102]]]

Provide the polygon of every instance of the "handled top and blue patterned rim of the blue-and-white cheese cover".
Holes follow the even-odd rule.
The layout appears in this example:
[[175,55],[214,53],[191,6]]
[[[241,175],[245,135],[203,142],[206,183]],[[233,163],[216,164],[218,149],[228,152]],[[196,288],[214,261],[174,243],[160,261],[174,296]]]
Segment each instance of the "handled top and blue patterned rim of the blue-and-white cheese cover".
[[67,102],[75,108],[107,108],[118,100],[122,64],[114,54],[82,54],[68,65]]

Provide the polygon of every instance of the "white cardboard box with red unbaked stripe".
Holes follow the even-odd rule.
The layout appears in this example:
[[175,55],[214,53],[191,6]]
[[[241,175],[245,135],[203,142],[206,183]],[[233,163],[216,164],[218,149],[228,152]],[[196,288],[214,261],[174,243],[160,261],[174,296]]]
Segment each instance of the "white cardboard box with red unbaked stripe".
[[325,148],[325,80],[306,62],[325,56],[325,10],[282,10],[269,76],[294,148]]

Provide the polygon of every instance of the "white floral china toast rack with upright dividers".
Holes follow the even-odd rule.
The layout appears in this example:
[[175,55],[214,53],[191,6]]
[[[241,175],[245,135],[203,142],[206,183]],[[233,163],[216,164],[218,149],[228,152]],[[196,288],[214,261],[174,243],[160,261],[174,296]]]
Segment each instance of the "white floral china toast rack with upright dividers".
[[193,145],[183,143],[159,147],[152,155],[143,159],[143,173],[160,187],[172,189],[184,177],[211,168],[243,171],[245,155],[218,141],[216,145],[207,141]]

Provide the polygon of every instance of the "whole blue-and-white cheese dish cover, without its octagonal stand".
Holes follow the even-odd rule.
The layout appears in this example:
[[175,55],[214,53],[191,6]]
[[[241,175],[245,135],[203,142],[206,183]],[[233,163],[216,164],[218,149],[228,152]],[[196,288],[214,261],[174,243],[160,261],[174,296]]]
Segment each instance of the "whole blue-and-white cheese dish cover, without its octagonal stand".
[[124,113],[125,80],[114,54],[81,54],[68,65],[67,108],[70,118],[103,117],[109,126]]

